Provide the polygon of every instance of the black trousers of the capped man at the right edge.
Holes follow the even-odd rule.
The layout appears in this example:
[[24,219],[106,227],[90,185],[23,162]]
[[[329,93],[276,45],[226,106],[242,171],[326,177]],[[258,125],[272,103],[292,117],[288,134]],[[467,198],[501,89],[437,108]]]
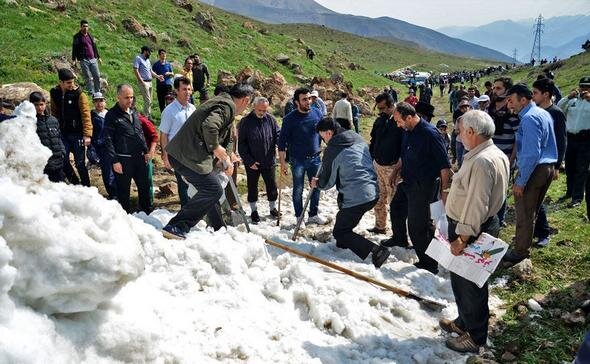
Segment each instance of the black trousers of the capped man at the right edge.
[[567,134],[567,149],[565,152],[566,195],[572,201],[584,199],[584,185],[588,178],[590,166],[590,136],[583,140],[574,134]]

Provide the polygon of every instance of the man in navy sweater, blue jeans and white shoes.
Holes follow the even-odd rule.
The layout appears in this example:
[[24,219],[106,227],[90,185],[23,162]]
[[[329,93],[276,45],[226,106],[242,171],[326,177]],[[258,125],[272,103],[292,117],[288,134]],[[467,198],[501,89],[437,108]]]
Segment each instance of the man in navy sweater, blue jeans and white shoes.
[[[281,174],[287,174],[287,150],[289,164],[293,175],[293,208],[295,216],[299,218],[303,213],[303,183],[307,174],[311,182],[320,168],[320,136],[316,133],[316,126],[322,119],[322,113],[311,107],[311,91],[307,87],[295,90],[293,95],[295,110],[283,118],[283,125],[279,135],[279,159]],[[320,191],[314,189],[311,193],[310,208],[307,223],[323,225],[327,221],[318,215]]]

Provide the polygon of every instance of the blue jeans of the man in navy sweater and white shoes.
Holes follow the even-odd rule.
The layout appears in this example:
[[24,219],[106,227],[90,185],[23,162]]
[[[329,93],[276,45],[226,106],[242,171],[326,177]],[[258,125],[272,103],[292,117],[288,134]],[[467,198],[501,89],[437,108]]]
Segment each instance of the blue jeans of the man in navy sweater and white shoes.
[[[293,208],[295,216],[301,216],[303,213],[303,184],[304,175],[307,173],[307,179],[311,181],[315,177],[322,164],[319,154],[315,157],[304,160],[291,160],[291,174],[293,175]],[[311,193],[309,207],[309,216],[318,214],[318,205],[320,203],[320,190],[317,188]]]

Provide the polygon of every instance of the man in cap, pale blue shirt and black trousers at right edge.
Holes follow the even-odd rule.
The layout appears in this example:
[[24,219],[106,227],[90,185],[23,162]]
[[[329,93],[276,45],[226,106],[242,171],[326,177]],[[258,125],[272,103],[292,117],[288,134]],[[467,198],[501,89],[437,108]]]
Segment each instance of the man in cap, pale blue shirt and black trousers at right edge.
[[[588,167],[590,166],[590,76],[580,79],[579,88],[570,92],[557,104],[567,118],[567,150],[565,153],[565,174],[567,189],[561,201],[571,198],[570,207],[576,207],[590,193]],[[586,197],[587,213],[590,204]]]

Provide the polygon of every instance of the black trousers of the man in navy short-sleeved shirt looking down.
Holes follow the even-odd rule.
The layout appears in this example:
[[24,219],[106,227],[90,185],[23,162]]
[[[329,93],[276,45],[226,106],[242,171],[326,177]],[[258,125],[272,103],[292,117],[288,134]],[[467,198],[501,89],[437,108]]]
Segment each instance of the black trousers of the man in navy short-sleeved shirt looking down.
[[417,266],[434,274],[438,272],[438,263],[426,255],[426,248],[434,237],[435,227],[430,217],[430,203],[436,188],[437,179],[402,182],[397,186],[397,192],[389,205],[393,242],[396,245],[407,245],[409,231],[419,259]]

